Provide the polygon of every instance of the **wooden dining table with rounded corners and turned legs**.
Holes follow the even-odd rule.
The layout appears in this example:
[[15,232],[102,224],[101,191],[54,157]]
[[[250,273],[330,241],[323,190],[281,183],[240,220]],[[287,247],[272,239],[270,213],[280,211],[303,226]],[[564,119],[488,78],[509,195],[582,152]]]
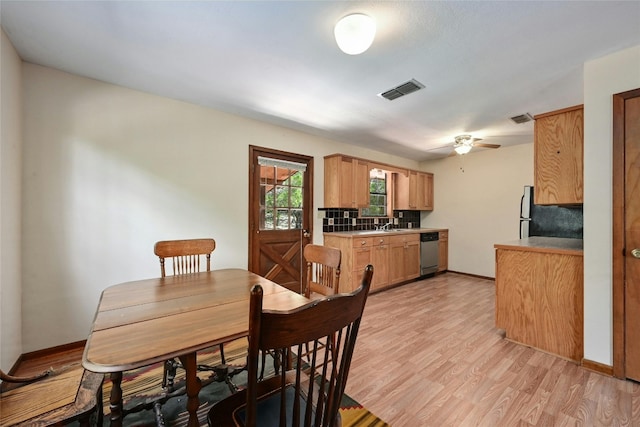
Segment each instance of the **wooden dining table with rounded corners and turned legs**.
[[255,284],[264,290],[264,309],[290,310],[304,296],[242,269],[138,280],[102,292],[83,366],[111,375],[111,425],[121,426],[122,373],[178,357],[186,371],[189,426],[197,426],[200,406],[196,352],[249,331],[249,296]]

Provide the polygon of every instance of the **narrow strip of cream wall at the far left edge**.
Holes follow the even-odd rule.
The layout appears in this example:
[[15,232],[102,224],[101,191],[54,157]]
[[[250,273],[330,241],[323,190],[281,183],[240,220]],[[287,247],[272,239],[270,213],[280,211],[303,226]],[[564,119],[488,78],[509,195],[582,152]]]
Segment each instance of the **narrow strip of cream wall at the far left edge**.
[[22,354],[20,228],[22,61],[0,29],[0,367]]

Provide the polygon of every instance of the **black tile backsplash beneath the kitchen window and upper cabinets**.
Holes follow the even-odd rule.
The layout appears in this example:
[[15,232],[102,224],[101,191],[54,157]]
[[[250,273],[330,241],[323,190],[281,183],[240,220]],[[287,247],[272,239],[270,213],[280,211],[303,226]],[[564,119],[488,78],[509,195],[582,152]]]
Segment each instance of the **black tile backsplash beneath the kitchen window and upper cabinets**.
[[[318,210],[325,212],[322,220],[322,231],[325,233],[375,230],[376,226],[381,227],[391,221],[390,218],[359,218],[358,209],[320,208]],[[411,228],[420,228],[420,211],[393,211],[393,218],[398,220],[398,224],[392,223],[389,228],[409,228],[409,224]],[[376,219],[377,224],[375,224]]]

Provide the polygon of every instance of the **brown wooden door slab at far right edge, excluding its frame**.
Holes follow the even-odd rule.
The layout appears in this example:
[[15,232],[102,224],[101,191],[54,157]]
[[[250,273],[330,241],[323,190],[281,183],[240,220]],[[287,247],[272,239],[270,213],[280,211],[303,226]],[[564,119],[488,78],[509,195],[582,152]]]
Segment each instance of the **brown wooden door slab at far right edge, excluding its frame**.
[[640,381],[640,97],[625,104],[625,371]]

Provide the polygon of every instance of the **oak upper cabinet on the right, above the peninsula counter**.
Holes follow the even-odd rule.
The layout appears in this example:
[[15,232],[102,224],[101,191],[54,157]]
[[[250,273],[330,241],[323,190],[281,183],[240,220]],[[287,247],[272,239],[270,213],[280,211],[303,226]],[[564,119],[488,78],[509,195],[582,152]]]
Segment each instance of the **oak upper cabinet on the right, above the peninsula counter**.
[[534,118],[535,203],[582,204],[582,105]]

